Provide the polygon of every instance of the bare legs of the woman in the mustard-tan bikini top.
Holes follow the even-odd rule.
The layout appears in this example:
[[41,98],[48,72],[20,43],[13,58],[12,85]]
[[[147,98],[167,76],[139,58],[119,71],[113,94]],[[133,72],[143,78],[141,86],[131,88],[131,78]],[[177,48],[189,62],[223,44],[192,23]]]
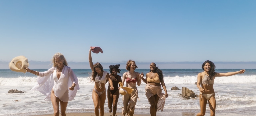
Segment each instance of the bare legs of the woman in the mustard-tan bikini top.
[[158,95],[153,95],[149,99],[150,103],[150,116],[156,116],[157,114],[157,102],[159,100]]

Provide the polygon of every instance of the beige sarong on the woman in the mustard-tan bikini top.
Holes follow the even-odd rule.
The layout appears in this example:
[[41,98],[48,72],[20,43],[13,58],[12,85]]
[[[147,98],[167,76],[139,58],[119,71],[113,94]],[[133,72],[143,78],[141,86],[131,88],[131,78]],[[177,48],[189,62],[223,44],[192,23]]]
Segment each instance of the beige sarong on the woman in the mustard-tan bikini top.
[[146,92],[145,95],[147,96],[148,99],[151,96],[157,94],[157,96],[159,97],[159,100],[157,102],[157,111],[160,110],[160,109],[161,109],[161,111],[163,111],[164,106],[165,106],[165,94],[162,93],[161,86],[154,86],[154,85],[146,84],[145,92]]

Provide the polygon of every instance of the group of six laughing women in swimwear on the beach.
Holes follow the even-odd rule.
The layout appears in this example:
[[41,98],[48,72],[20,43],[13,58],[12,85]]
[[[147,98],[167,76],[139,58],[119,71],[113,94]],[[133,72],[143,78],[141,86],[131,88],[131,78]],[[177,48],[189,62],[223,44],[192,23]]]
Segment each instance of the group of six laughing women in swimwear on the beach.
[[[165,98],[168,97],[166,86],[163,79],[163,72],[156,67],[155,63],[150,63],[150,71],[144,78],[143,73],[135,71],[137,65],[135,61],[129,60],[126,64],[126,70],[123,77],[117,75],[120,73],[120,65],[110,65],[110,74],[103,70],[100,63],[93,64],[91,57],[92,48],[89,50],[89,64],[92,70],[91,82],[94,82],[92,99],[94,103],[94,111],[96,116],[104,115],[104,104],[106,100],[106,87],[105,84],[108,82],[107,97],[109,112],[113,110],[113,116],[116,114],[117,102],[119,98],[118,83],[126,82],[126,87],[133,89],[131,94],[123,95],[123,108],[122,114],[125,116],[133,116],[135,105],[138,99],[138,90],[136,84],[140,86],[141,81],[146,83],[145,95],[150,103],[150,115],[156,116],[158,110],[163,111],[165,104]],[[68,101],[71,101],[77,90],[79,90],[78,79],[72,69],[67,66],[65,57],[61,53],[56,53],[52,58],[53,67],[45,72],[37,72],[25,68],[27,72],[33,73],[38,76],[37,85],[34,86],[33,90],[38,90],[45,94],[47,97],[45,100],[51,100],[54,116],[59,116],[61,112],[62,116],[66,116],[66,107]],[[213,89],[215,77],[231,76],[235,74],[244,73],[245,70],[228,73],[217,73],[215,72],[215,65],[211,61],[205,61],[202,65],[203,72],[198,74],[197,87],[200,91],[200,108],[201,112],[196,116],[204,116],[206,110],[206,103],[209,102],[211,116],[215,116],[216,100],[215,92]],[[201,86],[200,86],[201,85]],[[120,86],[120,85],[119,85]],[[165,93],[162,93],[161,86]],[[61,111],[59,111],[59,104]]]

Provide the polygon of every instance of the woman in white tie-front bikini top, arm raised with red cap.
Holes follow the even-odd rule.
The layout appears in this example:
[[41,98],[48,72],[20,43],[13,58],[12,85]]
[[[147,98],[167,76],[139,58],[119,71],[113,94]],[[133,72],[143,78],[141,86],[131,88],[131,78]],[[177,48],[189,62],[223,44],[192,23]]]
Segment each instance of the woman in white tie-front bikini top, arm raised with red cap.
[[96,116],[99,116],[99,109],[100,109],[100,116],[104,116],[104,104],[106,100],[106,87],[105,84],[107,80],[110,84],[110,90],[114,90],[113,82],[110,79],[109,73],[103,70],[103,67],[100,63],[95,63],[93,65],[92,58],[91,58],[91,51],[89,50],[89,64],[92,70],[92,77],[91,82],[95,82],[94,88],[92,90],[92,100],[94,103],[94,112]]

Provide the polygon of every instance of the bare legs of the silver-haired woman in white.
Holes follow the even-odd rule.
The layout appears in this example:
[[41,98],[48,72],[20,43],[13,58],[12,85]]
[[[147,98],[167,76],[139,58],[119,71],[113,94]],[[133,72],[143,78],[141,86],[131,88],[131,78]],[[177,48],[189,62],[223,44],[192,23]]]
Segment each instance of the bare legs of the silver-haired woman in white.
[[53,90],[51,92],[51,101],[52,101],[52,104],[53,104],[54,116],[59,116],[59,114],[60,114],[59,103],[61,105],[61,116],[66,116],[66,108],[67,108],[67,103],[68,102],[61,101],[58,97],[56,97],[54,95]]

